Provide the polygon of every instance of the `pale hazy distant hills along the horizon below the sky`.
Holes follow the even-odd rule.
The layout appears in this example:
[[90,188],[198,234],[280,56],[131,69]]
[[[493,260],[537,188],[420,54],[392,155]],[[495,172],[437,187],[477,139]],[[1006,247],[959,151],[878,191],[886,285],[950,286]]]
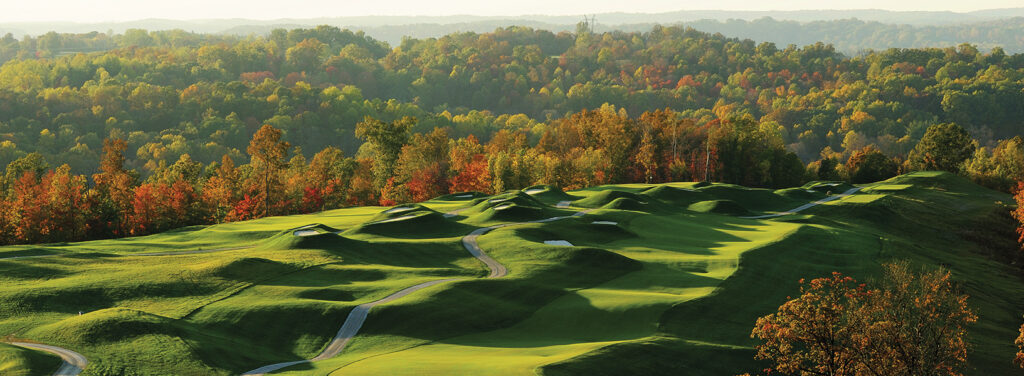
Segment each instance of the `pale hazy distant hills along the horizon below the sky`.
[[[521,16],[350,16],[305,19],[140,19],[121,23],[27,23],[0,25],[0,35],[183,30],[236,36],[268,35],[275,29],[329,25],[361,30],[377,40],[397,45],[404,37],[439,38],[453,33],[488,33],[499,28],[523,26],[555,33],[574,31],[582,15]],[[1024,8],[990,9],[967,13],[950,11],[800,10],[800,11],[673,11],[664,13],[597,14],[598,32],[647,31],[654,25],[684,25],[728,37],[804,46],[821,41],[846,54],[892,47],[947,47],[961,43],[982,50],[1000,46],[1024,52]]]

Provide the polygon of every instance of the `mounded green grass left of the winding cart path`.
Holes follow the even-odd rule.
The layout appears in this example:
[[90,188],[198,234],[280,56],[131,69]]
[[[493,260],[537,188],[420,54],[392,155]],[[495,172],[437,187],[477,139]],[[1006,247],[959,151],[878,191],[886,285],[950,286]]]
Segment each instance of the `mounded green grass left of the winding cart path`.
[[[0,260],[0,333],[75,349],[91,362],[87,375],[230,374],[314,356],[357,304],[420,282],[485,274],[458,238],[291,235],[309,223],[356,226],[379,211],[267,218]],[[225,232],[258,240],[248,249],[132,255]]]

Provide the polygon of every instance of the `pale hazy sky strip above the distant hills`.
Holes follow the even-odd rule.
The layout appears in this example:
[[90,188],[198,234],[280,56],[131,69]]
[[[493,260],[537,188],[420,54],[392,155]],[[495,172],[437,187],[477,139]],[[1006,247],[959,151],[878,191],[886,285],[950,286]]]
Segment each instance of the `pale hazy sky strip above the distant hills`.
[[311,18],[349,15],[518,15],[683,9],[953,10],[1024,6],[1021,0],[0,0],[0,22],[140,18]]

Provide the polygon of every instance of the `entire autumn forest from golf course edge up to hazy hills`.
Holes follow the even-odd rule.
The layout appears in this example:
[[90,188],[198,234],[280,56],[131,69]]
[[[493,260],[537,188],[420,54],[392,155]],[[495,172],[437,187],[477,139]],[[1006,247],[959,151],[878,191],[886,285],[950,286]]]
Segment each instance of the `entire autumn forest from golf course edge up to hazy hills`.
[[[94,52],[86,52],[94,51]],[[692,29],[0,39],[7,243],[535,183],[1024,178],[1024,55]],[[345,157],[350,156],[350,157]]]

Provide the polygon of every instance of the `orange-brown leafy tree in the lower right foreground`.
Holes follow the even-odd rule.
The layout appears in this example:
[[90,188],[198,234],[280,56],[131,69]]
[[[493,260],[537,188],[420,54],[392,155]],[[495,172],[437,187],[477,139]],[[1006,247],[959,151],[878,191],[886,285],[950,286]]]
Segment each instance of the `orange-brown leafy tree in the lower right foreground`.
[[835,273],[758,319],[757,359],[791,375],[961,375],[977,316],[948,270],[886,265],[877,286]]

